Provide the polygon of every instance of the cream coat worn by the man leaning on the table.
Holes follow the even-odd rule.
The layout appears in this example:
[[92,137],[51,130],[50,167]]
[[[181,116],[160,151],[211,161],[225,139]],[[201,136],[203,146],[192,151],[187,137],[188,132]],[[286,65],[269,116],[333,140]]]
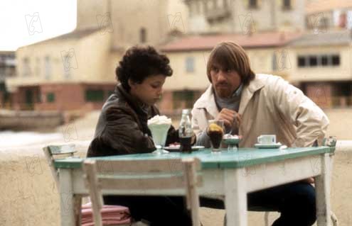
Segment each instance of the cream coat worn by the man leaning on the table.
[[[204,131],[208,120],[218,115],[212,86],[196,101],[192,110],[195,130]],[[303,92],[281,77],[256,74],[242,89],[240,147],[253,147],[260,135],[277,135],[277,142],[288,147],[321,145],[329,119]],[[199,135],[199,133],[198,133]]]

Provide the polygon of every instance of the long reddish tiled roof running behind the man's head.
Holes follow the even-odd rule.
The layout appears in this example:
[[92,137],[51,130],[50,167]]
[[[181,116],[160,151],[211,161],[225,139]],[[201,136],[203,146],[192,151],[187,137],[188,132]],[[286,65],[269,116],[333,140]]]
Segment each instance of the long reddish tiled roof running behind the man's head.
[[188,35],[184,38],[174,40],[160,48],[165,52],[184,50],[211,50],[223,41],[233,41],[244,48],[254,47],[276,47],[287,45],[292,40],[299,38],[302,33],[253,33],[252,35],[240,34],[218,34],[218,35]]

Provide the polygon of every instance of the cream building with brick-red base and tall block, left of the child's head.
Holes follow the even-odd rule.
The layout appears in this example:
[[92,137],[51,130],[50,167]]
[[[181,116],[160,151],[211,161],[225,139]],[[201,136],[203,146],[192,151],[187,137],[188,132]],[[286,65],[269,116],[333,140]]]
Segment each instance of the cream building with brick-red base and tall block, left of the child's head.
[[6,79],[11,108],[100,109],[117,84],[124,51],[186,33],[186,15],[182,1],[78,0],[73,32],[16,50],[16,76]]

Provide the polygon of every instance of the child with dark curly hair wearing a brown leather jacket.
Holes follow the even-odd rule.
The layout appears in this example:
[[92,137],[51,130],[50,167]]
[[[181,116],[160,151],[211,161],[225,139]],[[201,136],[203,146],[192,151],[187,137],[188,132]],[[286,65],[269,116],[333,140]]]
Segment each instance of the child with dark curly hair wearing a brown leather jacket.
[[[153,152],[156,148],[147,120],[159,114],[154,103],[171,75],[169,58],[154,47],[129,48],[116,69],[120,84],[102,106],[87,157]],[[171,142],[178,142],[172,126],[166,145]],[[183,197],[104,196],[104,203],[127,206],[134,220],[144,219],[151,225],[191,225]]]

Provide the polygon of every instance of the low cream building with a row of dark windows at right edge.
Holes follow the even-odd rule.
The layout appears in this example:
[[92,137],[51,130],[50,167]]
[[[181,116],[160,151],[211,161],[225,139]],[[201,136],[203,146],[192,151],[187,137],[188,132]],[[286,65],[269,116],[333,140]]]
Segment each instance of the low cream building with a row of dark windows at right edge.
[[344,30],[309,33],[289,46],[289,80],[325,108],[352,106],[351,34]]

